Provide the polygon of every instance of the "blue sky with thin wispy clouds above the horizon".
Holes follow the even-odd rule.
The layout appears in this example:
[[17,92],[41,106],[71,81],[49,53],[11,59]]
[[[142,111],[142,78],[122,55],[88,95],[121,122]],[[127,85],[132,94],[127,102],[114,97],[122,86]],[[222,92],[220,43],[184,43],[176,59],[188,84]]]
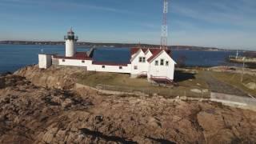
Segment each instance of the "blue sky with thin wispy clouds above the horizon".
[[[169,0],[168,44],[256,50],[255,0]],[[160,44],[162,0],[0,0],[0,41]]]

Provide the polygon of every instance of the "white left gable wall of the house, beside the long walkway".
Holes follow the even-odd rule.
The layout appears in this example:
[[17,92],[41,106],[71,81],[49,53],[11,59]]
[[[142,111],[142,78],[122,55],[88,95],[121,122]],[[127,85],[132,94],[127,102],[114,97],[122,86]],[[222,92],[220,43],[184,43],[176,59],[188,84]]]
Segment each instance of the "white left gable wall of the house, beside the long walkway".
[[[131,74],[137,75],[141,74],[144,71],[148,71],[149,63],[147,62],[139,62],[140,57],[146,57],[142,50],[138,51],[138,54],[134,57],[131,62]],[[138,66],[138,70],[134,70],[134,66]]]

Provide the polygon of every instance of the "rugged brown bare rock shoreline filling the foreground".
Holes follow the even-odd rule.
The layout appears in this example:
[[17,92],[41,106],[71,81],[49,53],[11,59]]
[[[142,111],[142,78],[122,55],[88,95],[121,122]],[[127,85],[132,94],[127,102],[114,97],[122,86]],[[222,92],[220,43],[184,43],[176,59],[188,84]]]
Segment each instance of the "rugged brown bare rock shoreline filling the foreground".
[[0,143],[256,142],[253,111],[75,89],[81,70],[56,69],[0,77]]

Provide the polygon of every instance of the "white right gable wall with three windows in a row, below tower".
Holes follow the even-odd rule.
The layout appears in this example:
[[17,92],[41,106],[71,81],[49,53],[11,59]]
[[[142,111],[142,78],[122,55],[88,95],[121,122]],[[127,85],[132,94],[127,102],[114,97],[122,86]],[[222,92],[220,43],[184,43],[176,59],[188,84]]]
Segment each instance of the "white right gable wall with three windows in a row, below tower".
[[[164,59],[163,66],[160,65],[161,59]],[[158,66],[155,66],[155,61],[158,61]],[[169,66],[166,66],[166,61],[169,62]],[[162,54],[160,54],[150,63],[148,78],[150,78],[150,75],[152,75],[154,77],[167,77],[174,80],[174,66],[174,60],[170,58],[165,51],[163,51]]]

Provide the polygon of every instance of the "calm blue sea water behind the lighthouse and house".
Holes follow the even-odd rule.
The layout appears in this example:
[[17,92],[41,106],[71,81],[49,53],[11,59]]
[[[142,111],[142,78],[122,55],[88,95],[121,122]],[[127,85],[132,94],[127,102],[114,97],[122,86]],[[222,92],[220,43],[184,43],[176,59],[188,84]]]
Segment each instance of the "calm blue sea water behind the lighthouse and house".
[[[0,73],[14,72],[19,68],[38,63],[38,54],[41,50],[49,54],[64,54],[65,46],[28,46],[28,45],[0,45]],[[88,47],[79,47],[78,51],[87,51]],[[226,62],[230,54],[228,51],[199,51],[199,50],[173,50],[174,60],[185,56],[187,66],[230,66]],[[94,60],[98,62],[125,63],[130,60],[128,48],[102,48],[94,52]]]

